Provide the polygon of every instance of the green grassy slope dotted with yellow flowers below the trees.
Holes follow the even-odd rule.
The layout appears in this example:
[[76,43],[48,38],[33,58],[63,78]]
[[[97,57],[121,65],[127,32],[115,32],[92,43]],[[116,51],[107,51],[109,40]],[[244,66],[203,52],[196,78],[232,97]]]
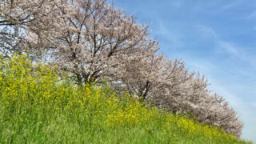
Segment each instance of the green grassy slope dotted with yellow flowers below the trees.
[[0,62],[0,143],[250,142],[14,55]]

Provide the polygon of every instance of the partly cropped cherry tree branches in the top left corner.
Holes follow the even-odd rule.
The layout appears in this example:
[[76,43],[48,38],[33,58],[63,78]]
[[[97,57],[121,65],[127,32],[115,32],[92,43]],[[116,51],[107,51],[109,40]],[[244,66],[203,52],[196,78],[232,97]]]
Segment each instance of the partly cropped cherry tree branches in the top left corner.
[[25,28],[31,22],[45,21],[54,11],[54,1],[3,0],[0,2],[0,52],[7,56],[22,52],[27,45]]

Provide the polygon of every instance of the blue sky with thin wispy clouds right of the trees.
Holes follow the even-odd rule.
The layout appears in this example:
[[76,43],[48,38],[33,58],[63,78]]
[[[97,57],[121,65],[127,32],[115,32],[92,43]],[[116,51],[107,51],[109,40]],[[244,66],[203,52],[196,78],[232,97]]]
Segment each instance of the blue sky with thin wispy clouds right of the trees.
[[169,58],[206,75],[244,122],[242,138],[256,142],[255,0],[113,0],[150,25]]

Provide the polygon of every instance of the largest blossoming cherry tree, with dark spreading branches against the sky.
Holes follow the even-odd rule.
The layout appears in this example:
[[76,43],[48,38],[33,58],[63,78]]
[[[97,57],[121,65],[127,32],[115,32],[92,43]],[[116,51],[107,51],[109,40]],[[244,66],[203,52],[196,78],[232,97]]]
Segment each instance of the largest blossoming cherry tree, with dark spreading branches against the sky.
[[[104,0],[62,1],[51,16],[54,26],[31,22],[30,43],[44,47],[52,62],[70,71],[78,83],[94,82],[122,55],[138,50],[158,50],[158,42],[147,38],[150,31],[133,16]],[[40,44],[38,44],[40,43]]]

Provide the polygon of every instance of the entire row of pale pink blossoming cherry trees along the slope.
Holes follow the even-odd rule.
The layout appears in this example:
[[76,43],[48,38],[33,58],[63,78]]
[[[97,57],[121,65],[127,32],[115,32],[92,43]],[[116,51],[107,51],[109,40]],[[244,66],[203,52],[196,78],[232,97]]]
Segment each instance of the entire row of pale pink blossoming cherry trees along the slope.
[[148,26],[106,0],[3,0],[0,27],[5,57],[29,50],[34,61],[57,64],[78,85],[108,78],[144,102],[241,136],[238,115],[206,79],[156,54],[160,46]]

